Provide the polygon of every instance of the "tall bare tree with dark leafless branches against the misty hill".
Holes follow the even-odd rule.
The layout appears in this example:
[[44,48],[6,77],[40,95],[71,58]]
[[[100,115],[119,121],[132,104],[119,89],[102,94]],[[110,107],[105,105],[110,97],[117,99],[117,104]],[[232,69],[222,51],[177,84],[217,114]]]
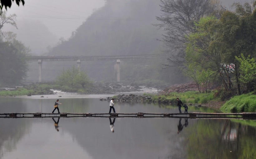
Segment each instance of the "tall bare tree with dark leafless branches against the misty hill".
[[195,32],[195,22],[204,16],[219,14],[222,8],[219,1],[212,0],[161,0],[160,2],[162,15],[157,16],[156,19],[161,23],[155,25],[165,31],[161,41],[169,50],[175,49],[178,52],[176,56],[169,58],[169,61],[180,65],[180,62],[184,62],[183,49],[187,42],[186,37]]

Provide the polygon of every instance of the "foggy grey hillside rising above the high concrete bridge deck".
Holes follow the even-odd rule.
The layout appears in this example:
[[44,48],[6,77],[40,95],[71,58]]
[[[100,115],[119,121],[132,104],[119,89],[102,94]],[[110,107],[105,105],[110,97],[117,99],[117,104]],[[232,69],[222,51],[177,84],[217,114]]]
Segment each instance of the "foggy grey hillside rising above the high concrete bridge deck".
[[49,55],[138,55],[151,54],[161,38],[155,16],[159,1],[108,0]]

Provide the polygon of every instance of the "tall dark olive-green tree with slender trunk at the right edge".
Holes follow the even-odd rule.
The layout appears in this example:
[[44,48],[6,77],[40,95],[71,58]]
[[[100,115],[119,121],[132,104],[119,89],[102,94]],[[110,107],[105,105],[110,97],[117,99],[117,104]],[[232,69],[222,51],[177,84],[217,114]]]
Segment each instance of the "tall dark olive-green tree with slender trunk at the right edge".
[[249,3],[245,3],[244,6],[234,3],[233,6],[236,8],[235,12],[224,11],[220,18],[216,41],[223,46],[223,63],[234,65],[237,92],[241,94],[239,63],[235,56],[239,56],[240,53],[253,57],[256,55],[256,11],[255,5],[252,7]]

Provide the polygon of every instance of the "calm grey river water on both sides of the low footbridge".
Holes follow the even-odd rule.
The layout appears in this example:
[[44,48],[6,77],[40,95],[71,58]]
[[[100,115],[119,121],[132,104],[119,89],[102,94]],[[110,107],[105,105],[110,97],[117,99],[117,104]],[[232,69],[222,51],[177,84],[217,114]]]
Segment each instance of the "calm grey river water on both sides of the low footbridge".
[[[109,101],[99,98],[2,97],[0,113],[52,112],[57,98],[62,103],[60,112],[109,111]],[[176,106],[149,103],[116,102],[115,109],[120,113],[178,112]],[[219,112],[204,107],[188,111]],[[255,120],[61,117],[57,121],[58,117],[0,118],[0,158],[250,159],[256,155]]]

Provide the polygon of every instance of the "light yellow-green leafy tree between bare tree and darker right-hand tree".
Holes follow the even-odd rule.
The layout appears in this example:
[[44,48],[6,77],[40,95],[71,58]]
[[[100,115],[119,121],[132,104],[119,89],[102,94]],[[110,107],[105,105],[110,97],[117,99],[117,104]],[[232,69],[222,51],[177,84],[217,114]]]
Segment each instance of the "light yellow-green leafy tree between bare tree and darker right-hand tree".
[[[207,85],[221,72],[223,66],[220,46],[213,43],[217,24],[215,16],[201,18],[195,23],[196,32],[187,37],[186,43],[185,75],[191,76],[198,86],[203,84],[206,92]],[[220,75],[222,76],[221,73]]]

